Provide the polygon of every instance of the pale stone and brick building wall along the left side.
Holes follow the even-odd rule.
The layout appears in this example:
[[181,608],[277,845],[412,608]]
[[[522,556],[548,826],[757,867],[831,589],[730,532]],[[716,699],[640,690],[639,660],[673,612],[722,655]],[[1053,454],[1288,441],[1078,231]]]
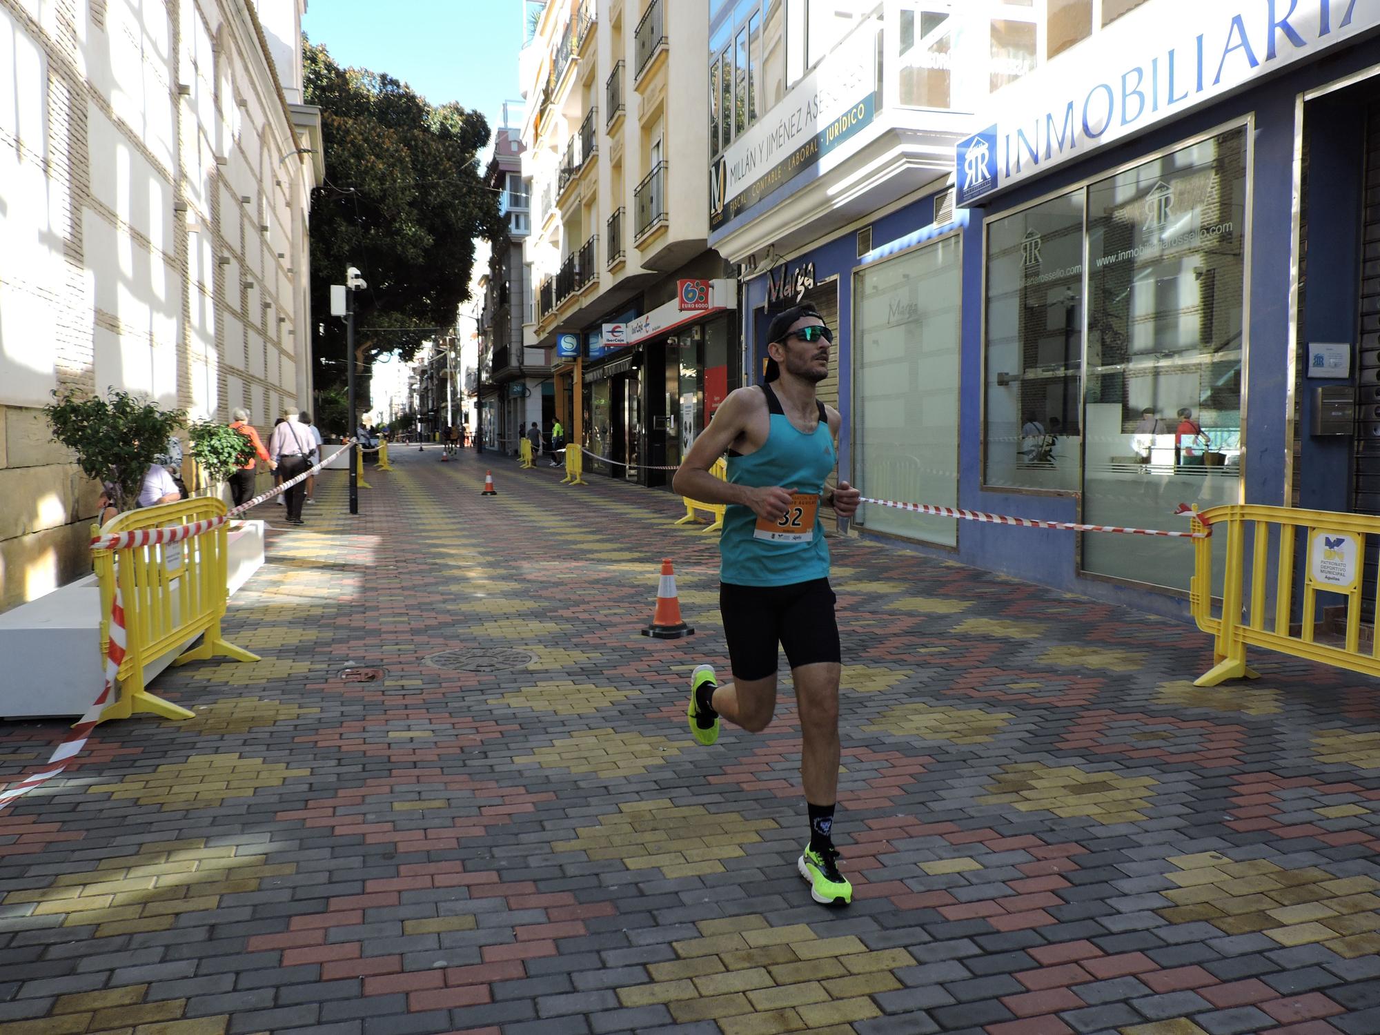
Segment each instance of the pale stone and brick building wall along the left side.
[[54,389],[310,399],[306,0],[0,0],[0,610],[90,570]]

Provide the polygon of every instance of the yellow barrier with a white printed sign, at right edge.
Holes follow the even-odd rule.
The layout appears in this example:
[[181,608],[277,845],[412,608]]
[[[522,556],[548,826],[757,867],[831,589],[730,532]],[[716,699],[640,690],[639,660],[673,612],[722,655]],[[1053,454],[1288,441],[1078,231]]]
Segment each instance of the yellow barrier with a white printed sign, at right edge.
[[[1303,529],[1303,555],[1297,530]],[[1256,679],[1246,665],[1246,647],[1265,647],[1325,665],[1380,676],[1380,638],[1361,651],[1361,580],[1368,535],[1380,535],[1380,518],[1330,511],[1300,511],[1252,504],[1214,506],[1194,519],[1195,540],[1190,593],[1194,621],[1216,636],[1216,664],[1195,686],[1227,679]],[[1248,563],[1248,531],[1252,540]],[[1213,549],[1225,551],[1221,615],[1213,615]],[[1271,555],[1274,555],[1271,558]],[[1271,564],[1274,560],[1274,564]],[[1271,573],[1274,580],[1271,581]],[[1297,633],[1293,624],[1294,584],[1303,595]],[[1346,599],[1347,631],[1341,644],[1318,643],[1318,593]]]

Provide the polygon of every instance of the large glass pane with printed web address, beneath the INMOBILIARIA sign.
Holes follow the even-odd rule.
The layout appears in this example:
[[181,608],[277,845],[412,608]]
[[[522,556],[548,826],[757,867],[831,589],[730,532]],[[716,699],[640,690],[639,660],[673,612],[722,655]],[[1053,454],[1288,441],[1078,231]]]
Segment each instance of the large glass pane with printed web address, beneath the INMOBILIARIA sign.
[[[1246,146],[1232,130],[1087,188],[1087,522],[1239,502]],[[1194,555],[1089,535],[1082,566],[1187,589]]]

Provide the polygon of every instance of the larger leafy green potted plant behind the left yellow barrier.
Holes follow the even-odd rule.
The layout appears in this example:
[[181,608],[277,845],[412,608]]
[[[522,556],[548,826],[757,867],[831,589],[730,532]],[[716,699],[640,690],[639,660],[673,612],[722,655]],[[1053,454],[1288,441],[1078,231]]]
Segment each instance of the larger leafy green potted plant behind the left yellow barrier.
[[109,483],[121,511],[139,498],[144,473],[186,421],[185,410],[160,410],[115,388],[106,389],[105,397],[72,388],[54,391],[52,397],[57,402],[43,407],[52,440],[76,453],[87,477]]

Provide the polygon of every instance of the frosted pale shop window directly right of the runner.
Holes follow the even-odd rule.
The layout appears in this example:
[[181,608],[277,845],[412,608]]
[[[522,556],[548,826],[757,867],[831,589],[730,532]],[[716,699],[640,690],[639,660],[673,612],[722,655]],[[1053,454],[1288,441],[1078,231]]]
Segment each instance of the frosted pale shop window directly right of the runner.
[[[958,505],[962,264],[956,236],[864,266],[853,293],[854,482]],[[945,546],[958,522],[864,504],[858,524]]]

